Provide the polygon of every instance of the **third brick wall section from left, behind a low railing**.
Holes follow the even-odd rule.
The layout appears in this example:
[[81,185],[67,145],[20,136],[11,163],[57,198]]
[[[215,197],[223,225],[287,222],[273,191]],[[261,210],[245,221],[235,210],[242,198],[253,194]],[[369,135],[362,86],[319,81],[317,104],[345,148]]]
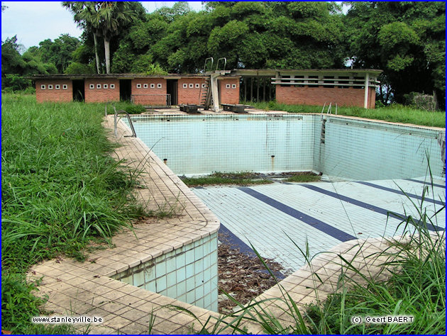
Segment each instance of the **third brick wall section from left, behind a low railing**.
[[133,103],[141,105],[167,105],[166,79],[136,78],[132,79]]

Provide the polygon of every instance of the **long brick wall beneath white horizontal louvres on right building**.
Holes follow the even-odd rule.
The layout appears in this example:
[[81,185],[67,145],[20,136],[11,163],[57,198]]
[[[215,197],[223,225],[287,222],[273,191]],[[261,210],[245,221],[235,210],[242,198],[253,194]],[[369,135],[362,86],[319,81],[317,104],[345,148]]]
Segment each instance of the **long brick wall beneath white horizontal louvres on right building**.
[[[363,89],[341,89],[338,87],[296,87],[276,86],[276,101],[287,104],[321,105],[326,103],[337,103],[338,106],[363,107],[365,91]],[[375,106],[375,89],[370,88],[368,92],[368,106]]]

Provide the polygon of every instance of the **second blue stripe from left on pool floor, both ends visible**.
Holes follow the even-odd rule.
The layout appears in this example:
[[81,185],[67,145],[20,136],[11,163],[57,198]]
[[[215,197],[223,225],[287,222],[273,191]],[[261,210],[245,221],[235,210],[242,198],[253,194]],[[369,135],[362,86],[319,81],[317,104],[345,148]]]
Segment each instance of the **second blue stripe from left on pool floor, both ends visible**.
[[261,194],[258,191],[250,189],[246,186],[242,186],[238,189],[250,196],[253,196],[254,198],[257,198],[260,201],[263,201],[264,203],[267,203],[269,206],[272,206],[273,208],[277,208],[278,210],[282,211],[283,213],[286,213],[287,215],[291,215],[292,217],[301,220],[303,223],[310,225],[312,228],[316,228],[317,230],[320,230],[321,232],[324,232],[327,235],[330,235],[331,237],[341,240],[342,242],[357,239],[353,235],[349,235],[348,233],[345,233],[342,230],[338,230],[337,228],[334,228],[333,226],[324,223],[319,219],[311,217],[306,213],[302,213],[301,211],[297,211],[294,208],[286,206],[284,203],[278,202],[275,199],[265,196],[264,194]]

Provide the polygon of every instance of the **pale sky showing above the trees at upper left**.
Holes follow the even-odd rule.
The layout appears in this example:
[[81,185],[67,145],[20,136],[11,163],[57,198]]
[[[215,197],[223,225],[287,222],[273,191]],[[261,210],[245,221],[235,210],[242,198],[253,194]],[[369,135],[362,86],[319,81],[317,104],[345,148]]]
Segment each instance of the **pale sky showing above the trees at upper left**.
[[[172,7],[175,1],[140,1],[151,13],[163,6]],[[203,9],[201,1],[188,1],[194,11]],[[8,8],[1,13],[1,41],[17,35],[17,43],[25,49],[60,34],[68,33],[80,38],[82,30],[77,28],[73,15],[63,8],[61,1],[1,1]],[[24,50],[23,50],[24,51]]]

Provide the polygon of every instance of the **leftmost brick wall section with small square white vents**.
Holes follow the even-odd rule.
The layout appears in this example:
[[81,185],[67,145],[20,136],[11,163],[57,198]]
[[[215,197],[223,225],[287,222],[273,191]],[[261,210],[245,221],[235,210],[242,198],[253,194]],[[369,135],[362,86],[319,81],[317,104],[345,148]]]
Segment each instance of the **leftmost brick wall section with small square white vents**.
[[72,81],[70,79],[36,79],[35,99],[38,103],[43,101],[72,101]]

